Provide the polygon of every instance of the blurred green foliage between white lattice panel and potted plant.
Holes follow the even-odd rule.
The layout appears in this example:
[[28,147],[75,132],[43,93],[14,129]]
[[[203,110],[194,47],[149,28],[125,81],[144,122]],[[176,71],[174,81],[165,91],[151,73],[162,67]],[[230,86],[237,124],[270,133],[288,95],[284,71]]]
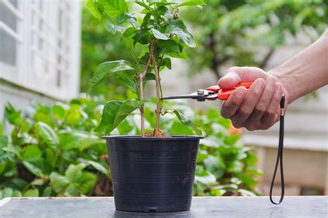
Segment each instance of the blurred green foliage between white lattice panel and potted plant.
[[[99,63],[125,59],[133,61],[120,36],[112,35],[104,28],[104,23],[93,17],[93,14],[82,3],[82,41],[81,41],[81,74],[80,90],[87,92],[89,79]],[[138,49],[138,48],[137,48]],[[126,88],[116,77],[110,75],[104,83],[95,88],[91,95],[104,95],[108,99],[126,99]]]

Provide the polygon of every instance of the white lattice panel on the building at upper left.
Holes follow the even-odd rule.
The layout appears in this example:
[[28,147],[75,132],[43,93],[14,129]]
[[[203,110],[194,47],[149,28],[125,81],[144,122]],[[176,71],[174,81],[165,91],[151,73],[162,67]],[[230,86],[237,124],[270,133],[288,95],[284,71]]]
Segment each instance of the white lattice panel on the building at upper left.
[[56,99],[77,95],[80,4],[0,0],[0,77]]

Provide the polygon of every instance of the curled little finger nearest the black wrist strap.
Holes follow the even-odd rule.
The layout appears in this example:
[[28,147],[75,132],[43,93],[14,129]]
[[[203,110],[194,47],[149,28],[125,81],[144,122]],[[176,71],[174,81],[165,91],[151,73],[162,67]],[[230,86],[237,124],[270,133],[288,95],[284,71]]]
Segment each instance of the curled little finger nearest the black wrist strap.
[[277,121],[277,110],[280,106],[280,100],[282,99],[282,84],[277,83],[275,86],[275,95],[273,95],[268,109],[264,113],[261,123],[263,126],[271,127],[275,121]]

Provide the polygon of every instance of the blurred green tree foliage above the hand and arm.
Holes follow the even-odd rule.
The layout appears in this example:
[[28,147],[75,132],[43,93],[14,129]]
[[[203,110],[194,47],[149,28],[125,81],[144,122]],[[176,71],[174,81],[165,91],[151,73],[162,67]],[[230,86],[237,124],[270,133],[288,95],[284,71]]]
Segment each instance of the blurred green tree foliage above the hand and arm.
[[327,28],[328,1],[207,0],[203,10],[182,14],[199,41],[190,52],[190,72],[210,69],[216,77],[221,67],[265,68],[277,48],[302,32],[312,41]]

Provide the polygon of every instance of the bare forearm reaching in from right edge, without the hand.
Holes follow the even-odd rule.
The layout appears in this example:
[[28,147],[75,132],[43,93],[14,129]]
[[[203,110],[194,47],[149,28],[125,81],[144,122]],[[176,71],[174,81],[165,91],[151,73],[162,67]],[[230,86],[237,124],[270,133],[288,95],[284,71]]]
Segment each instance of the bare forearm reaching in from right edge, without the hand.
[[269,72],[285,88],[288,102],[328,84],[328,30],[315,43]]

